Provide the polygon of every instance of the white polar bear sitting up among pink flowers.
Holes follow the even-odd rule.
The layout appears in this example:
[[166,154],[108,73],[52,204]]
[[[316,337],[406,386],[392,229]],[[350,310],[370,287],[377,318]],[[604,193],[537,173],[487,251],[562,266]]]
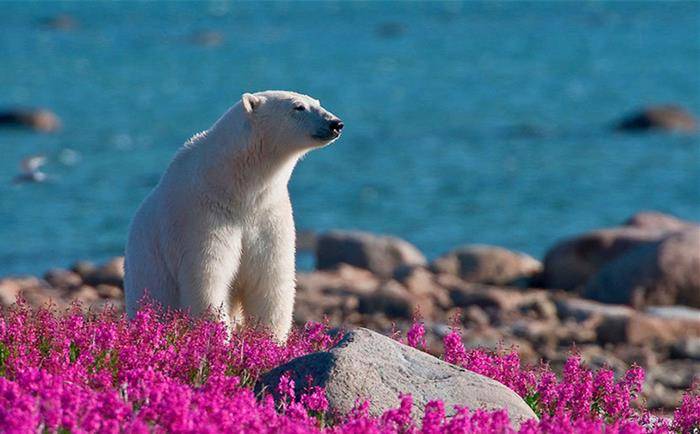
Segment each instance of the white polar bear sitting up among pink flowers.
[[343,122],[287,91],[243,94],[177,152],[139,207],[125,255],[127,314],[149,296],[255,321],[284,340],[295,292],[287,183],[300,157],[335,141]]

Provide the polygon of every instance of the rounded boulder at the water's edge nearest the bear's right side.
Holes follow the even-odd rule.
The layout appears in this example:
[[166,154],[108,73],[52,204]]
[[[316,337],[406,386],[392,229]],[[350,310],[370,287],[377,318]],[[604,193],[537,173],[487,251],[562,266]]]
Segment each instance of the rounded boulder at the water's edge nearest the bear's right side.
[[319,235],[317,268],[332,269],[342,263],[391,277],[399,266],[425,265],[427,261],[415,246],[395,237],[359,231],[331,231]]

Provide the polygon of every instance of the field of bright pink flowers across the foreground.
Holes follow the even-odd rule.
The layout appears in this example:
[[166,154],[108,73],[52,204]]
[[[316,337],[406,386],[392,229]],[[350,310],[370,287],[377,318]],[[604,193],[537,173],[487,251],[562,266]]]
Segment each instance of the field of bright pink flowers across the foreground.
[[[259,330],[228,337],[212,319],[145,307],[132,321],[113,312],[55,314],[20,303],[0,318],[0,432],[275,432],[511,433],[508,415],[458,408],[445,416],[432,402],[422,422],[411,397],[380,417],[358,402],[333,414],[324,391],[256,396],[259,375],[292,358],[333,345],[326,325],[295,329],[286,345]],[[420,322],[404,342],[424,346]],[[672,420],[637,402],[644,371],[592,372],[573,355],[562,378],[546,366],[524,367],[515,353],[466,350],[458,330],[444,339],[444,360],[494,378],[520,394],[540,416],[520,433],[692,433],[700,430],[700,396],[689,391]]]

